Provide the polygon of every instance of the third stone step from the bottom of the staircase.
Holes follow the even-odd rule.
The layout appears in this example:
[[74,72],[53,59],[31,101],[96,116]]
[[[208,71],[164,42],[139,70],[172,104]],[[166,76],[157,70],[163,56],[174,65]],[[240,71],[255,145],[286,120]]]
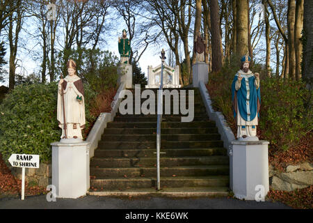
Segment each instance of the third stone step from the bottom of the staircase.
[[[228,175],[228,165],[160,167],[161,176],[216,176]],[[90,167],[92,178],[102,177],[155,177],[156,167],[100,168]]]

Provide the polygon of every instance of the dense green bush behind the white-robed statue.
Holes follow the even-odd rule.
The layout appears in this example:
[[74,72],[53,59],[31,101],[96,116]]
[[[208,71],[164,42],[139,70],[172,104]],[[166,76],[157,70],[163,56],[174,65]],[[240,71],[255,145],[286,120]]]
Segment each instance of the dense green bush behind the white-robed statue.
[[[86,128],[95,117],[89,102],[95,93],[84,85]],[[60,141],[61,128],[56,120],[57,83],[21,84],[0,105],[0,153],[8,160],[13,153],[38,154],[51,159],[51,142]]]

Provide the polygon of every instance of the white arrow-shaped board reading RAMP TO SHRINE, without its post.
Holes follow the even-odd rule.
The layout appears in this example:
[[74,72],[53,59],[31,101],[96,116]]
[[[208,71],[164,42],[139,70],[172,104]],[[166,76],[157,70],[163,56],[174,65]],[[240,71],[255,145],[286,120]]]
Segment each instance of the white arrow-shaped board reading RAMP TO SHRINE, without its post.
[[39,155],[12,154],[8,161],[12,167],[39,168]]

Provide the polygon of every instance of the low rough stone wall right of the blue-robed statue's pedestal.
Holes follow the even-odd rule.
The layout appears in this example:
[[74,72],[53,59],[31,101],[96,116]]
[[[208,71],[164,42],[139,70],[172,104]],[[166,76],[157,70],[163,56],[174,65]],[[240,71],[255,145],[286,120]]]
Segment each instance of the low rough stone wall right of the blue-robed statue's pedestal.
[[289,165],[284,172],[280,172],[272,165],[268,167],[270,186],[273,190],[292,191],[313,185],[313,164],[304,162]]

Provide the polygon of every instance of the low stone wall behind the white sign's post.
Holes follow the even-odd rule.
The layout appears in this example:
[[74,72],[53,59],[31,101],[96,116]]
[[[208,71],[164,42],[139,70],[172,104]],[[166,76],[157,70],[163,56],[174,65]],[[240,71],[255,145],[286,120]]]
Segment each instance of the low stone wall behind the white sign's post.
[[[11,173],[22,180],[22,168],[11,167]],[[51,184],[51,164],[40,163],[39,168],[25,168],[25,180],[29,186],[47,187]]]

